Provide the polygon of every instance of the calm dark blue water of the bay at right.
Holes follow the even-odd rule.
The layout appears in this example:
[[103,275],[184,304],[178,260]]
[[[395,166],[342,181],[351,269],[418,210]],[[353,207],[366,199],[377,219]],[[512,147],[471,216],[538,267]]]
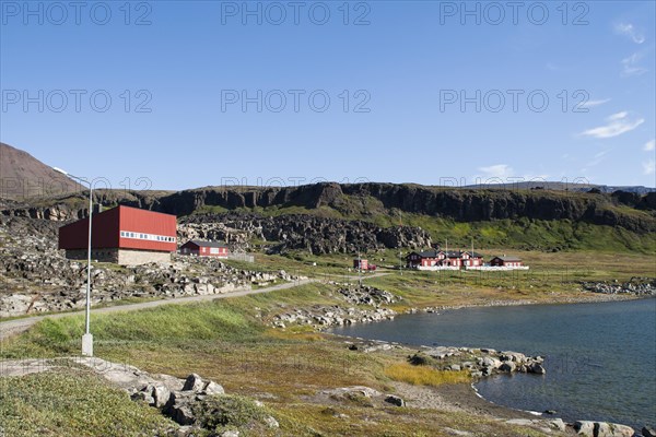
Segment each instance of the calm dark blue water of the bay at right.
[[656,299],[466,308],[332,332],[415,345],[546,356],[547,375],[483,378],[483,398],[565,421],[656,425]]

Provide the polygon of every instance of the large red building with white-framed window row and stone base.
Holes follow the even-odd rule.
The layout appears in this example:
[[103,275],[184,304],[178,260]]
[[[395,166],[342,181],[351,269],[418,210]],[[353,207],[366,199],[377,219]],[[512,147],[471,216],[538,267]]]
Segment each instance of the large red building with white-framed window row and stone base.
[[[91,257],[118,264],[169,262],[177,248],[175,215],[130,206],[93,214]],[[59,248],[69,259],[86,259],[89,218],[59,228]]]

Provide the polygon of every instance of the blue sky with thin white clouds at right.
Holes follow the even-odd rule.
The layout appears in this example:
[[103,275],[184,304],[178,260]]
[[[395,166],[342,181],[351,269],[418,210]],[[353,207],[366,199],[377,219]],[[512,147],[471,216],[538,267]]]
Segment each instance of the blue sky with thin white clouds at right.
[[656,186],[654,1],[75,4],[0,1],[0,140],[114,188]]

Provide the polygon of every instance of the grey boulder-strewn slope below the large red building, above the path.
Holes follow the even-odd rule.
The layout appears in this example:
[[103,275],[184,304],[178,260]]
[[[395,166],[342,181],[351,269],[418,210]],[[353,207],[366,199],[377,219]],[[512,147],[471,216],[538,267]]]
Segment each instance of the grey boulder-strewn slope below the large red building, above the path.
[[[85,264],[57,250],[57,222],[0,216],[0,317],[84,305]],[[168,265],[96,264],[92,275],[93,305],[129,297],[221,294],[296,279],[284,271],[248,271],[215,259],[177,256]]]

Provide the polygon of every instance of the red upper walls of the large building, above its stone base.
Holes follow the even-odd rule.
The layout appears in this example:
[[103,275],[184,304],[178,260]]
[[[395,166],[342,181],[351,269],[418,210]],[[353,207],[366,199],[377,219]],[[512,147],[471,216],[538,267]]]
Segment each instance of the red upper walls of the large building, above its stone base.
[[[93,215],[94,249],[140,249],[172,252],[177,248],[175,215],[117,206]],[[89,218],[59,228],[60,249],[86,249]]]

